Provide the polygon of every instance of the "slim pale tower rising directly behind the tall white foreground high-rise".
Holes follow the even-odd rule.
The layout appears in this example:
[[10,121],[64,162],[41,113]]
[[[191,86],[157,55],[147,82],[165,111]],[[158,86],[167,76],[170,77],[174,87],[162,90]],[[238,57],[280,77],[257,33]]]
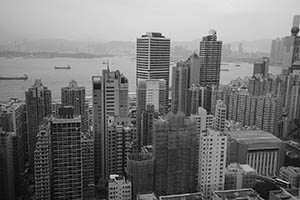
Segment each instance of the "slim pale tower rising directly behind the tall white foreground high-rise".
[[214,129],[216,131],[225,131],[225,120],[226,120],[226,105],[222,100],[217,101],[216,112],[215,112],[215,124]]

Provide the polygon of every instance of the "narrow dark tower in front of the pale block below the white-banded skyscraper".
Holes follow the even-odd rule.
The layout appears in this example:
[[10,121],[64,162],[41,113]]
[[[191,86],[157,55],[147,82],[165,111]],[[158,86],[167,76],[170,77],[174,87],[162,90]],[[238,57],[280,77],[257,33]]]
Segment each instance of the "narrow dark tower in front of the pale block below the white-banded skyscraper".
[[154,111],[154,105],[148,104],[141,117],[141,143],[142,145],[152,145],[153,121],[158,115]]

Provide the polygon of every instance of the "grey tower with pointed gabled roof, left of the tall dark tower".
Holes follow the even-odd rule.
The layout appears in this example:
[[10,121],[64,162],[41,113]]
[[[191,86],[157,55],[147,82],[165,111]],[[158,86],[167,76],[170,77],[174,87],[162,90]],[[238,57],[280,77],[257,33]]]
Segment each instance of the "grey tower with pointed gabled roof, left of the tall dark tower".
[[[192,85],[199,85],[200,84],[200,57],[198,54],[193,53],[188,57],[185,63],[190,68],[190,75],[189,75],[189,87]],[[172,84],[173,86],[173,84]]]

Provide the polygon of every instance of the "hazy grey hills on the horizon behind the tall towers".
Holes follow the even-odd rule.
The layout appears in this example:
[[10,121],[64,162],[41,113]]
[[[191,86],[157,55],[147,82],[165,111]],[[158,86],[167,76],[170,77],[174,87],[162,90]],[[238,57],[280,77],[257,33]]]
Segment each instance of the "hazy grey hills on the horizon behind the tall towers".
[[[201,38],[192,41],[171,41],[171,57],[186,58],[193,52],[198,52]],[[233,48],[239,41],[229,42]],[[241,41],[246,51],[259,51],[269,53],[271,39]],[[66,39],[40,39],[21,40],[9,44],[0,44],[2,51],[20,52],[57,52],[57,53],[88,53],[88,54],[114,54],[135,56],[135,41],[77,41]]]

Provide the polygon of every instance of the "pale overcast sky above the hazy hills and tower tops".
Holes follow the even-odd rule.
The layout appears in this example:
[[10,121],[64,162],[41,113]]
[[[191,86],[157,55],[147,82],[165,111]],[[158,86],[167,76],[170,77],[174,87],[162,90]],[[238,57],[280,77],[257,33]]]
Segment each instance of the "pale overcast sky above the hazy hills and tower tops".
[[0,42],[15,39],[134,41],[159,31],[190,41],[217,30],[223,41],[290,34],[300,0],[0,0]]

